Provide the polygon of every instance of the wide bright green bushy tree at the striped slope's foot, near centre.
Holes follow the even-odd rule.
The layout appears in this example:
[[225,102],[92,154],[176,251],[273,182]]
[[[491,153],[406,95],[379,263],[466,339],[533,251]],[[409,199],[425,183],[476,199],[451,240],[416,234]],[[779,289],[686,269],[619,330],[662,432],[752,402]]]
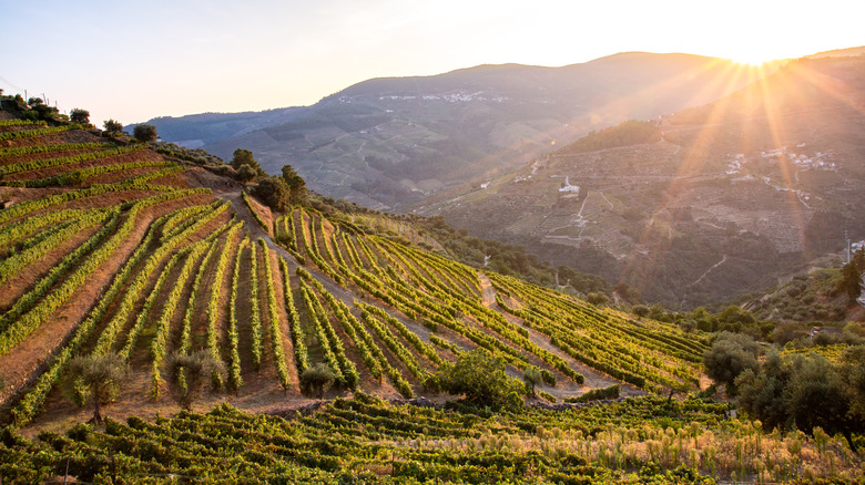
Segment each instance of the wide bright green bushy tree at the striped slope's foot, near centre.
[[445,365],[437,375],[442,391],[462,394],[470,403],[492,409],[523,405],[519,389],[522,385],[508,378],[505,361],[486,349],[464,352],[455,364]]

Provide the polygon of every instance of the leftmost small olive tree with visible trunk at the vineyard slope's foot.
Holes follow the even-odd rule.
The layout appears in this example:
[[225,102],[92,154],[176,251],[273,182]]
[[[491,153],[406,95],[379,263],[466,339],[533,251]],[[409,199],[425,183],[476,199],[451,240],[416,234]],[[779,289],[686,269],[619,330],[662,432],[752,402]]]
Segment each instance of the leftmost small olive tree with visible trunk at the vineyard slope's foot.
[[80,355],[69,362],[65,394],[84,407],[93,403],[93,421],[102,422],[102,406],[113,402],[129,375],[126,362],[115,353]]

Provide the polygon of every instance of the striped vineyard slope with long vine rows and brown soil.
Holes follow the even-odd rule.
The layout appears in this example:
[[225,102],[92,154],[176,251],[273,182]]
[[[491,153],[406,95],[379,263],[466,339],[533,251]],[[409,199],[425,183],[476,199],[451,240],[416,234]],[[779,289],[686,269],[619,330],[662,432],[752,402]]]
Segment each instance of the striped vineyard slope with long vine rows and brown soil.
[[549,399],[696,385],[700,333],[457,264],[368,216],[273,214],[225,166],[96,135],[0,121],[4,422],[85,419],[58,389],[78,354],[131,365],[120,415],[176,409],[166,362],[196,350],[228,369],[204,403],[250,411],[307,402],[299,375],[319,363],[329,396],[413,398],[479,347],[513,379],[537,367]]

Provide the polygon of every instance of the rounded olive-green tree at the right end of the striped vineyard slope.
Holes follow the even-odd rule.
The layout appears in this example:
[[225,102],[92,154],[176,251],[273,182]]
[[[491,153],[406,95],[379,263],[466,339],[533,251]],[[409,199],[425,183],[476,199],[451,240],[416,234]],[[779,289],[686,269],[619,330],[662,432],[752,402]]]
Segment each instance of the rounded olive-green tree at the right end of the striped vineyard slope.
[[760,369],[760,345],[749,336],[721,332],[712,347],[703,354],[705,373],[715,382],[730,386],[746,369]]

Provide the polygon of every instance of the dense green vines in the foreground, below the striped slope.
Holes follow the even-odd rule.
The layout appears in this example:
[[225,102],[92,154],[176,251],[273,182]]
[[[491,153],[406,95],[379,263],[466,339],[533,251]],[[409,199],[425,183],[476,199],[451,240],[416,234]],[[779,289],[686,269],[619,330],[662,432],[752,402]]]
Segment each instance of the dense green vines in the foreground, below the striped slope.
[[485,417],[359,393],[311,415],[223,404],[154,422],[78,424],[35,440],[6,430],[0,458],[22,483],[64,475],[93,483],[714,483],[699,473],[808,483],[843,468],[861,483],[861,460],[834,440],[763,435],[750,423],[725,423],[725,411],[645,396]]

